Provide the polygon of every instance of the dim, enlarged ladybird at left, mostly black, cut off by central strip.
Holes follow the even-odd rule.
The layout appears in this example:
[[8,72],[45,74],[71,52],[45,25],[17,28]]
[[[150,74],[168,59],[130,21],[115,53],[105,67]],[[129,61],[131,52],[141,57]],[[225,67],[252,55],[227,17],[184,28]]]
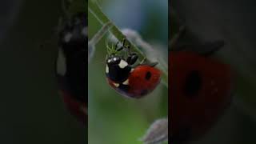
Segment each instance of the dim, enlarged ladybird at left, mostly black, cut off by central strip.
[[87,117],[87,14],[74,14],[58,31],[56,75],[63,101],[71,114],[85,123]]

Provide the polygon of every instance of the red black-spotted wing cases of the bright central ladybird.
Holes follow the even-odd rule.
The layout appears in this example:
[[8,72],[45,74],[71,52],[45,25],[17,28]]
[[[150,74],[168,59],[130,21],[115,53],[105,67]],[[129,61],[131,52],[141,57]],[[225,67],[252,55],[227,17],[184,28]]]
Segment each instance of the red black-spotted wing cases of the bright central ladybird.
[[117,87],[109,78],[107,81],[110,86],[117,90],[119,94],[129,98],[142,98],[146,94],[150,94],[161,80],[161,71],[153,66],[141,65],[136,66],[129,76],[129,84],[127,86]]

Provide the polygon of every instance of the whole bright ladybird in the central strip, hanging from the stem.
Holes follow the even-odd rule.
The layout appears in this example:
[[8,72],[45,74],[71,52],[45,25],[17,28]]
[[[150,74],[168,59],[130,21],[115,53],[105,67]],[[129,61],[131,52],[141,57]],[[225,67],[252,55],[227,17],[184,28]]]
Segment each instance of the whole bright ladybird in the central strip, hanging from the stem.
[[[106,79],[119,94],[129,98],[142,98],[158,86],[161,71],[154,67],[155,63],[133,66],[138,60],[138,55],[130,53],[130,46],[126,47],[125,42],[126,39],[119,49],[117,44],[114,53],[106,58]],[[115,53],[123,48],[129,52],[127,58]]]

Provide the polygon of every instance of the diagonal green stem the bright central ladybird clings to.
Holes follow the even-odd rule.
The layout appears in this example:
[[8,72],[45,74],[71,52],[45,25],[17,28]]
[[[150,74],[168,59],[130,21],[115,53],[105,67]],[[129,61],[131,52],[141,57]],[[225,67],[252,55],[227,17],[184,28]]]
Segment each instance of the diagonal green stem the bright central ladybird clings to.
[[[94,15],[94,17],[98,20],[98,22],[102,24],[102,26],[110,22],[112,26],[110,28],[110,32],[115,36],[115,38],[118,39],[118,41],[122,42],[122,40],[126,38],[126,36],[122,34],[121,30],[119,30],[118,27],[115,26],[113,22],[111,22],[110,19],[106,17],[106,14],[102,12],[102,9],[98,6],[95,0],[89,0],[88,2],[88,10],[90,11],[90,13]],[[126,42],[130,44],[130,49],[136,52],[139,58],[145,58],[147,62],[150,62],[150,60],[146,58],[145,54],[143,54],[142,51],[139,50],[137,46],[134,46],[134,44],[131,43],[128,39],[126,39]],[[168,72],[166,70],[162,70],[162,84],[168,87]]]

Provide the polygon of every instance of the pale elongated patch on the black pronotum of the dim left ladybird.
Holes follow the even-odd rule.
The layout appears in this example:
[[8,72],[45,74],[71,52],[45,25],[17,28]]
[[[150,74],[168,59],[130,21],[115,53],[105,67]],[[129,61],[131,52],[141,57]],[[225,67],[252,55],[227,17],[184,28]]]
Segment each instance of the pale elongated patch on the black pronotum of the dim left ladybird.
[[66,58],[61,49],[58,50],[57,73],[62,76],[66,74]]

